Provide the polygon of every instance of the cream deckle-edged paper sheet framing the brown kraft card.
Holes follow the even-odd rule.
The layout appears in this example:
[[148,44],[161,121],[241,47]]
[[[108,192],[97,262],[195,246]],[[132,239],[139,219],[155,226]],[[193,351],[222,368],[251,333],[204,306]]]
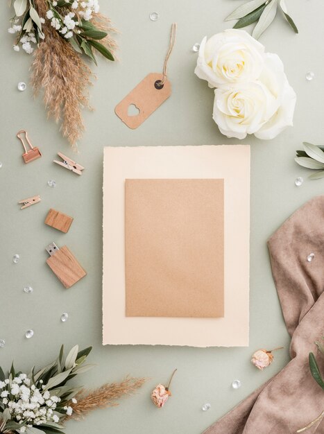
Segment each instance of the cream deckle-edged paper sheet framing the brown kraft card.
[[[224,180],[224,317],[127,317],[127,179]],[[250,147],[109,147],[103,174],[103,344],[247,346]]]

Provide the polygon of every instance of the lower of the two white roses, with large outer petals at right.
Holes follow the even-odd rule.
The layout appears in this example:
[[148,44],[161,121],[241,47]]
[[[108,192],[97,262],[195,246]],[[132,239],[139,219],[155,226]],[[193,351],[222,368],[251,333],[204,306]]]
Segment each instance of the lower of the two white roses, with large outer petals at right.
[[227,137],[273,139],[293,124],[295,104],[282,61],[267,53],[259,80],[215,89],[213,119]]

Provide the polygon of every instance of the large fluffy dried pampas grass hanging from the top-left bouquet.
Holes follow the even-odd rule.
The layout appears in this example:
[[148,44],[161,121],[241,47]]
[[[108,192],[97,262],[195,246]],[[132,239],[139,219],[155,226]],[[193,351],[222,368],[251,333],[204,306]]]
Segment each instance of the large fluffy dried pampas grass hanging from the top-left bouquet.
[[[46,0],[35,0],[40,17],[45,17]],[[101,44],[114,53],[116,42],[112,37],[114,29],[110,20],[96,14],[92,23],[108,33]],[[94,74],[80,53],[77,53],[64,37],[51,26],[49,20],[42,26],[45,38],[35,51],[31,66],[31,83],[35,96],[42,90],[48,116],[61,123],[60,130],[69,144],[76,149],[76,142],[85,130],[81,111],[89,107],[88,87]]]

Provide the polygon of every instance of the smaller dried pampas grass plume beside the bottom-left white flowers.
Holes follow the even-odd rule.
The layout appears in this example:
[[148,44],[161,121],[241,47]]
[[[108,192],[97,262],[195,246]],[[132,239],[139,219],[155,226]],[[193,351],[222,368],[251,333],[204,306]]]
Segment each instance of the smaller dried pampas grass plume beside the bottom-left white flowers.
[[71,403],[73,413],[69,419],[83,419],[87,413],[97,408],[118,406],[117,399],[133,394],[145,383],[145,379],[126,377],[120,383],[104,384],[100,388],[87,391],[80,390],[76,395],[77,403]]

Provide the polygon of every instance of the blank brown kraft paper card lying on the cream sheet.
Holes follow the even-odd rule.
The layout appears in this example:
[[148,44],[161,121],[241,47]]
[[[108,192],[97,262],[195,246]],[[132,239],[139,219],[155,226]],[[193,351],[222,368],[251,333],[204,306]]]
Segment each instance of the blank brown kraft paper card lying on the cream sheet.
[[126,317],[223,317],[223,179],[126,180],[125,238]]

